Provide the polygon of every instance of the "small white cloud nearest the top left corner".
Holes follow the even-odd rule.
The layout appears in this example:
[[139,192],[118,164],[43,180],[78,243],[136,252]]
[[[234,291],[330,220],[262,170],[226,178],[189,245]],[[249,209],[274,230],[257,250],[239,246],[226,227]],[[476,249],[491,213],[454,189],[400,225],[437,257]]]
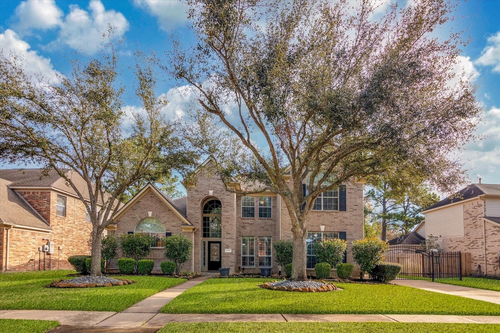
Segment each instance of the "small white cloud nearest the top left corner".
[[22,1],[15,8],[12,28],[18,34],[30,33],[32,29],[50,29],[61,23],[62,10],[54,0]]

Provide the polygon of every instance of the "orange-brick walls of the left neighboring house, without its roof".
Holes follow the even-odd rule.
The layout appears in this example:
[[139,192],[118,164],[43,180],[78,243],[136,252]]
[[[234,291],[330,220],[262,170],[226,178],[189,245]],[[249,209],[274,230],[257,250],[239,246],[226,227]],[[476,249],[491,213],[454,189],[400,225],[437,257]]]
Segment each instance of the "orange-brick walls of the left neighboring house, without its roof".
[[[67,258],[75,255],[89,255],[87,240],[92,224],[85,222],[85,206],[72,196],[66,197],[66,216],[56,215],[57,193],[54,191],[18,191],[48,223],[51,231],[42,232],[14,226],[8,230],[8,271],[31,271],[73,269]],[[62,194],[60,194],[62,195]],[[6,270],[7,230],[0,228],[1,271]],[[42,238],[54,242],[54,253],[46,255],[38,252],[38,247],[46,244]],[[59,246],[61,250],[59,250]],[[45,265],[46,264],[46,265]]]

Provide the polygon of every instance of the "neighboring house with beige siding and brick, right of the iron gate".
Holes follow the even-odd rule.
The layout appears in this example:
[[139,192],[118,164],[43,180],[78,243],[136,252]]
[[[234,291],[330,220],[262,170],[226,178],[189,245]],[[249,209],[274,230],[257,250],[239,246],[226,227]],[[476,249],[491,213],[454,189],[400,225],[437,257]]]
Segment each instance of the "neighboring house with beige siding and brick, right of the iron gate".
[[[495,275],[500,265],[500,185],[471,184],[422,212],[418,229],[444,251],[470,253],[470,271]],[[419,232],[420,232],[419,231]]]

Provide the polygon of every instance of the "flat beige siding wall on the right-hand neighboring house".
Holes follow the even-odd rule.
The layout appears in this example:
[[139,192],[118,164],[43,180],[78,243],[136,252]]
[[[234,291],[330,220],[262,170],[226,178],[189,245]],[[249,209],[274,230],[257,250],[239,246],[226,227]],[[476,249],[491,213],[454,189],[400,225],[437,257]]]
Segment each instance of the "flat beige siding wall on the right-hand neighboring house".
[[428,235],[438,237],[439,241],[463,237],[463,205],[458,204],[425,213],[425,238]]

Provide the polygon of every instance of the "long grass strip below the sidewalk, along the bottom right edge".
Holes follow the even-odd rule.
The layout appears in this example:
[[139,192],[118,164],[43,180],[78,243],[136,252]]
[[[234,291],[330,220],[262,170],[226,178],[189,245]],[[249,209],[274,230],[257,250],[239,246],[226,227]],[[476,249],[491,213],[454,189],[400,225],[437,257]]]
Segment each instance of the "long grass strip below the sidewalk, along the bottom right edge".
[[493,324],[441,324],[441,323],[172,323],[158,333],[495,333],[500,325]]

